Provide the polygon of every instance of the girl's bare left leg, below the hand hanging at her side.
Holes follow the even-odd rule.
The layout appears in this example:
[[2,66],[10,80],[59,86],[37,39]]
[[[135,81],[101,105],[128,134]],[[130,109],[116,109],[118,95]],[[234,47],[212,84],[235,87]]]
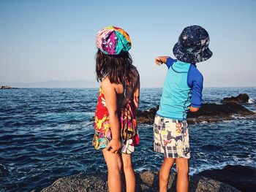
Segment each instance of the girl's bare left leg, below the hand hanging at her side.
[[108,191],[121,192],[121,155],[102,150],[108,166]]

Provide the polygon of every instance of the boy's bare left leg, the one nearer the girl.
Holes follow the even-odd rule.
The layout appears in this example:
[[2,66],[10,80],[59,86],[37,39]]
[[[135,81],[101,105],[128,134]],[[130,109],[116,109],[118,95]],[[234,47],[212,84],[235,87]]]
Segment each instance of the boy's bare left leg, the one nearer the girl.
[[170,169],[175,162],[175,158],[165,158],[159,172],[159,192],[167,191]]

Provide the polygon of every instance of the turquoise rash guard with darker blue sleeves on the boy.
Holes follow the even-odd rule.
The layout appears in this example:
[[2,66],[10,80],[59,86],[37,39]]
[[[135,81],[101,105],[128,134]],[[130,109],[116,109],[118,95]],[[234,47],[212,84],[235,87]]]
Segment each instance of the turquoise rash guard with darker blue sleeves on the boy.
[[203,75],[195,64],[167,58],[167,77],[157,115],[186,120],[189,106],[201,107]]

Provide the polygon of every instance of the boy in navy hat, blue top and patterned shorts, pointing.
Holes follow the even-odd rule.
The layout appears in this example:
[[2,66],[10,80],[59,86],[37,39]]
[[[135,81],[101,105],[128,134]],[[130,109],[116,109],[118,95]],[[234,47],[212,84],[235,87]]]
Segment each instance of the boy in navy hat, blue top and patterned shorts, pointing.
[[170,169],[176,163],[177,191],[189,189],[189,130],[187,112],[197,112],[202,103],[203,75],[195,64],[211,58],[207,31],[200,26],[184,28],[173,47],[177,59],[168,56],[155,58],[166,64],[167,77],[154,120],[154,151],[164,153],[159,171],[159,191],[167,191]]

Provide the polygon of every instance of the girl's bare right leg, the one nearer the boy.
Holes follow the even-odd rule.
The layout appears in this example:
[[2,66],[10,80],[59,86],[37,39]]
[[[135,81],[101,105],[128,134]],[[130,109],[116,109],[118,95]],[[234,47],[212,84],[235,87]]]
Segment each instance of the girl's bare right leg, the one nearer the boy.
[[135,192],[135,172],[132,167],[132,154],[121,153],[123,162],[126,192]]

